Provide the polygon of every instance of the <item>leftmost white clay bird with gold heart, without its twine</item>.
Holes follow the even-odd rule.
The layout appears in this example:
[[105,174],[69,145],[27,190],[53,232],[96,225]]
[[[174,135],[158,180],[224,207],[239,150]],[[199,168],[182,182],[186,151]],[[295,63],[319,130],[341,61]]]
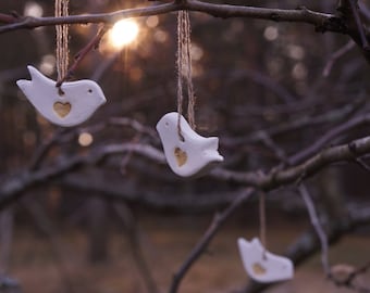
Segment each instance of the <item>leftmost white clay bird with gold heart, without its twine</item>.
[[103,103],[106,97],[97,82],[88,79],[57,82],[44,76],[33,66],[27,66],[30,80],[21,79],[16,85],[29,102],[49,122],[71,127],[87,120]]

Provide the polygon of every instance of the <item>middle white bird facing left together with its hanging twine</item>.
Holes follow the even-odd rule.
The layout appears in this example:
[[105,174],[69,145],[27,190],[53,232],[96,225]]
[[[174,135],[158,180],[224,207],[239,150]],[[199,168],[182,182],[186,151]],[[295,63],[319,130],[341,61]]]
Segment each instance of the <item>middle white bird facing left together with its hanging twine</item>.
[[[195,132],[195,94],[192,81],[190,22],[187,11],[177,15],[177,113],[165,114],[157,124],[164,155],[171,169],[183,177],[207,173],[223,161],[218,152],[219,139],[205,138]],[[188,105],[187,118],[183,117],[183,86]]]

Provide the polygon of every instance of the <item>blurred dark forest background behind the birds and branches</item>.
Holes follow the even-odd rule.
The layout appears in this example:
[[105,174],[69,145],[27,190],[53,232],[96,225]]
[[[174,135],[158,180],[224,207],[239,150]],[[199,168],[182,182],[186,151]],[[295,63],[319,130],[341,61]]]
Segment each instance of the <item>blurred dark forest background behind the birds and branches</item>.
[[[52,16],[52,2],[1,1],[0,13]],[[335,14],[337,2],[247,4]],[[78,0],[70,13],[157,4]],[[369,24],[370,1],[359,5]],[[223,169],[269,173],[286,157],[300,164],[369,135],[369,62],[345,34],[198,12],[190,20],[197,130],[218,136],[225,157],[220,169],[196,179],[170,170],[155,130],[176,111],[176,13],[137,17],[133,43],[116,50],[107,35],[86,55],[74,78],[97,80],[108,101],[74,128],[45,120],[15,85],[29,78],[28,64],[55,79],[54,27],[0,35],[1,293],[168,292],[213,216],[249,186],[229,180]],[[97,31],[95,24],[70,26],[72,60]],[[332,244],[332,268],[343,280],[356,269],[361,273],[347,284],[325,277],[297,186],[281,183],[267,192],[268,244],[297,267],[293,281],[269,292],[370,292],[366,160],[343,160],[305,180]],[[232,211],[180,292],[267,290],[248,281],[236,245],[238,237],[259,237],[258,195]]]

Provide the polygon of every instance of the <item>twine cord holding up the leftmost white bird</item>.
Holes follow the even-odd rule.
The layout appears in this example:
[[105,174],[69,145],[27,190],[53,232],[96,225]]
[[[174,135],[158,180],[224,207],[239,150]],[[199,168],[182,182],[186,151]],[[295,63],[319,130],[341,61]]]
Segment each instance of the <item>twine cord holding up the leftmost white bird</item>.
[[[55,0],[55,16],[69,15],[70,0]],[[57,30],[57,73],[58,81],[63,80],[69,71],[69,25],[55,26]],[[61,82],[58,82],[60,85]],[[59,86],[60,88],[60,86]]]

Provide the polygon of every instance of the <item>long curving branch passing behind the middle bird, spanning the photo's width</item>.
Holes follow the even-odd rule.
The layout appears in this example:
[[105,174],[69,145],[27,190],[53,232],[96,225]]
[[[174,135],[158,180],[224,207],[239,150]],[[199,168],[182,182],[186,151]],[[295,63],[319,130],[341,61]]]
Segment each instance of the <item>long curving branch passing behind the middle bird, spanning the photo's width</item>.
[[[157,163],[165,164],[164,154],[148,144],[126,143],[111,144],[92,149],[85,155],[75,155],[60,160],[58,164],[41,168],[37,171],[25,171],[11,177],[0,189],[0,209],[14,202],[26,189],[60,177],[67,171],[75,170],[86,165],[96,165],[107,156],[133,152],[148,157]],[[278,187],[301,180],[318,173],[323,167],[343,161],[354,161],[370,152],[370,137],[361,138],[323,150],[300,165],[285,169],[272,168],[268,174],[261,171],[237,173],[222,168],[214,169],[209,176],[224,181],[234,181],[243,184],[272,190]]]

